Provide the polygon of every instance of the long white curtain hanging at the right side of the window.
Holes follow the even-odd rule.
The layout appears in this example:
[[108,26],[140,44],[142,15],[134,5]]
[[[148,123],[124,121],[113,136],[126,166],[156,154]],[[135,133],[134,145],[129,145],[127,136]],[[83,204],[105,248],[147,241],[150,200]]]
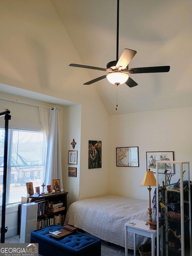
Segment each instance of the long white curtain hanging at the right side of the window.
[[53,179],[60,179],[61,189],[63,188],[63,181],[58,108],[53,107],[48,111],[49,115],[47,109],[39,107],[41,127],[47,141],[44,185],[52,185]]

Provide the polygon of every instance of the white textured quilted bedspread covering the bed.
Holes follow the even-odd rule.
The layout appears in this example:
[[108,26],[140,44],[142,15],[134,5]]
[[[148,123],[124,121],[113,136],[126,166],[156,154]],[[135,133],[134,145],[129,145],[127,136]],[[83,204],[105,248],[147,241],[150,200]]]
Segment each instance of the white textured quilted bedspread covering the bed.
[[[125,247],[125,223],[148,220],[148,200],[122,196],[100,196],[72,203],[64,224],[73,225],[104,241]],[[128,248],[134,249],[134,235],[128,233]],[[149,238],[137,235],[137,249]]]

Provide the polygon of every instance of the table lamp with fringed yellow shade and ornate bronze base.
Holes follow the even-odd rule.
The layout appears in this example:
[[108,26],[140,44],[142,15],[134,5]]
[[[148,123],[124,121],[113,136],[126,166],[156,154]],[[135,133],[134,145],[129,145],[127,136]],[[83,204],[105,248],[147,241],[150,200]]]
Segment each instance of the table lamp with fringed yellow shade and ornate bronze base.
[[[147,187],[147,189],[149,190],[149,219],[148,221],[152,221],[152,209],[151,209],[151,190],[152,188],[151,187],[156,187],[156,179],[155,179],[155,176],[153,174],[152,171],[150,171],[150,169],[148,169],[148,171],[145,172],[145,176],[140,184],[140,186],[144,186],[144,187]],[[148,221],[146,222],[146,225],[148,225]]]

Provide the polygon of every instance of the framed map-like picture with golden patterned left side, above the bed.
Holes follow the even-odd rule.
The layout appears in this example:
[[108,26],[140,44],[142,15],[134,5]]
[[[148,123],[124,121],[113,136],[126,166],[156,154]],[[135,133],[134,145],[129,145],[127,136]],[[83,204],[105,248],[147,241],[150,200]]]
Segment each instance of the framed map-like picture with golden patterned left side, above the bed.
[[116,148],[116,166],[139,167],[139,147]]

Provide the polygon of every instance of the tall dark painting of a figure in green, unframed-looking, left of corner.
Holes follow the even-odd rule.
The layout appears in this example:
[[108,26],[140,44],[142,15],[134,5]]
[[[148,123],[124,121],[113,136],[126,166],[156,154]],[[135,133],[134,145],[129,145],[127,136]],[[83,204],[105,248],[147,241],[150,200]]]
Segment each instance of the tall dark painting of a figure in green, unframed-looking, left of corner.
[[101,140],[89,140],[88,169],[101,168]]

